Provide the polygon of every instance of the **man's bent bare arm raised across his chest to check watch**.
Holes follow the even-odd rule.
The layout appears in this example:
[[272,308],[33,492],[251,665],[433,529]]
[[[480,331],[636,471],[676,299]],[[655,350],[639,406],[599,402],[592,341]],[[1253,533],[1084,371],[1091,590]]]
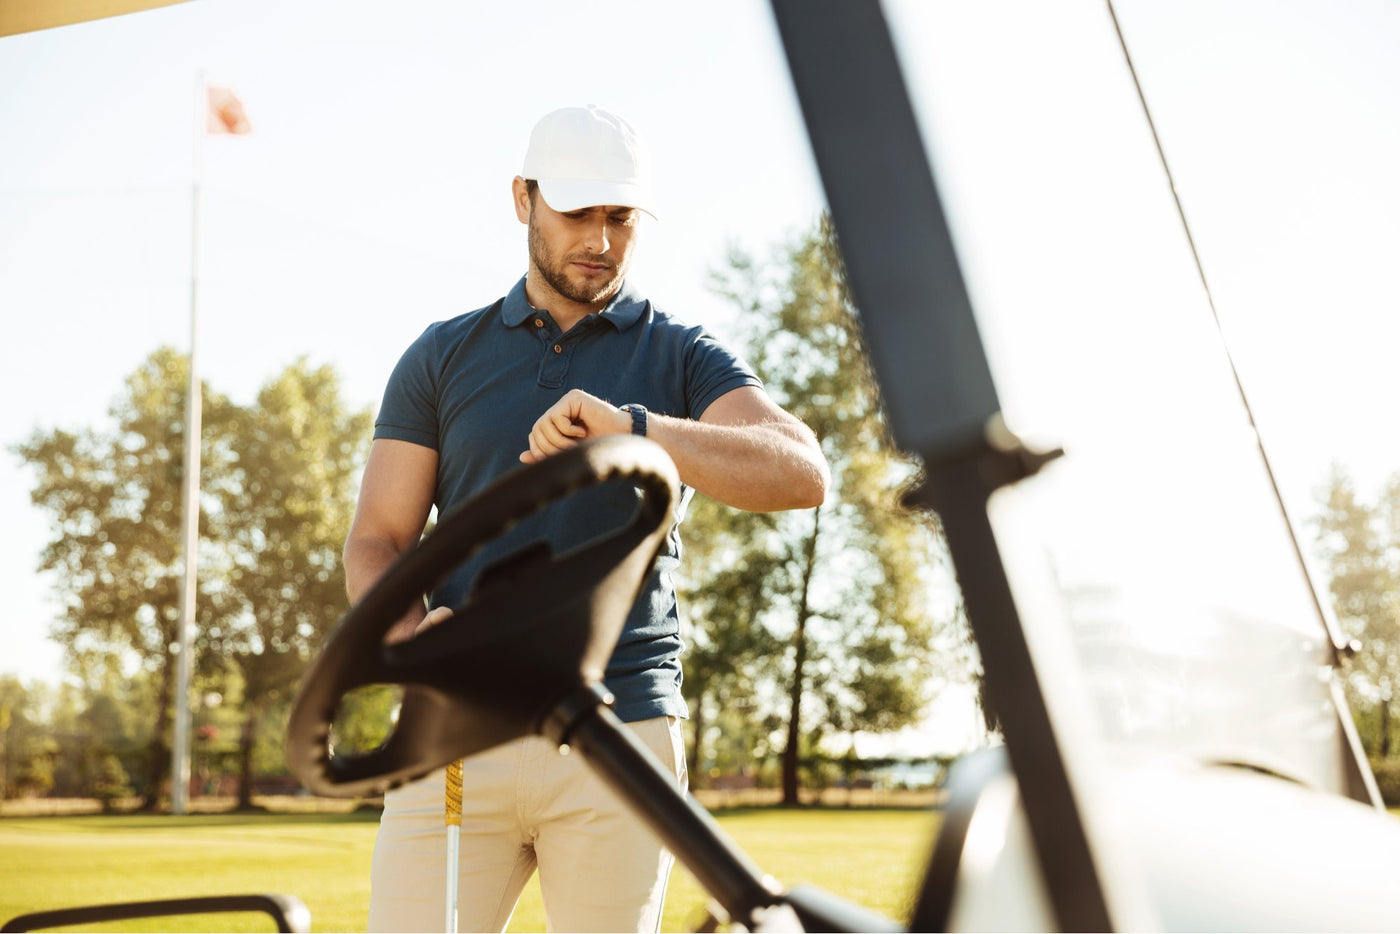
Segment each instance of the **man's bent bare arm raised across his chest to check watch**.
[[[535,421],[521,461],[630,431],[629,412],[570,389]],[[699,420],[648,412],[647,438],[671,455],[682,483],[735,508],[798,510],[826,499],[830,469],[816,435],[757,386],[731,389]]]

